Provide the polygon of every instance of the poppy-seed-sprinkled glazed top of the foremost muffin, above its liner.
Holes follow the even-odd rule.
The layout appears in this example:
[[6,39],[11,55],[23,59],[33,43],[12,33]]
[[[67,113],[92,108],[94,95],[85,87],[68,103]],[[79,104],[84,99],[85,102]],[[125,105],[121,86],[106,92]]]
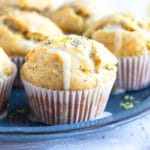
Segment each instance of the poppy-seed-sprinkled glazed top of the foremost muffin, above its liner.
[[112,81],[116,57],[102,44],[68,35],[30,52],[21,69],[25,80],[53,90],[93,89]]

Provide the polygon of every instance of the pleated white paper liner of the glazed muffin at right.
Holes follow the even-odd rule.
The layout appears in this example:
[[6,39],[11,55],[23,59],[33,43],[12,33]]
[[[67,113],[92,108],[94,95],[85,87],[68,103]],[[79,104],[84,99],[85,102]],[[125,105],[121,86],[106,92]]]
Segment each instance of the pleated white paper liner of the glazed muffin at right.
[[150,55],[119,59],[115,90],[139,90],[149,84]]

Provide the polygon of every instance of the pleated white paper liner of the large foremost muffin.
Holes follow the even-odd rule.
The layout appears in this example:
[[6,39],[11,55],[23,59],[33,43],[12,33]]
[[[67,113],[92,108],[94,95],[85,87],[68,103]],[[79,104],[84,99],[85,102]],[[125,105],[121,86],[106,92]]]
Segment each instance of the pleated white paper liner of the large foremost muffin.
[[34,121],[52,125],[98,118],[104,112],[115,79],[97,89],[84,91],[48,90],[22,81]]

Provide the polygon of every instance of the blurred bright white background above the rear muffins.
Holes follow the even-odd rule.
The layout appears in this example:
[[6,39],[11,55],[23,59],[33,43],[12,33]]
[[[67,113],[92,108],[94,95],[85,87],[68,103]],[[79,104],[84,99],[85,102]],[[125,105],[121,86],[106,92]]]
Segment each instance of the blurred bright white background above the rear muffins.
[[[62,3],[72,0],[53,0],[55,8]],[[76,0],[82,3],[99,3],[99,9],[103,11],[110,11],[110,9],[119,12],[131,12],[137,16],[150,16],[150,0]]]

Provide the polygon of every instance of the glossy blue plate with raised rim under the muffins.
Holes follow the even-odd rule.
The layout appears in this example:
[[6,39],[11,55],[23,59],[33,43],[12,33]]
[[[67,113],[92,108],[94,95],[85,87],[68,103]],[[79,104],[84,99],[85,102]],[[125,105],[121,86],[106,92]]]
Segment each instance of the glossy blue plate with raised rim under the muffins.
[[[125,110],[120,104],[135,106]],[[150,87],[143,90],[110,96],[107,112],[112,115],[94,121],[48,126],[29,120],[29,107],[23,89],[13,89],[8,115],[0,120],[0,141],[28,142],[65,138],[114,128],[150,113]]]

